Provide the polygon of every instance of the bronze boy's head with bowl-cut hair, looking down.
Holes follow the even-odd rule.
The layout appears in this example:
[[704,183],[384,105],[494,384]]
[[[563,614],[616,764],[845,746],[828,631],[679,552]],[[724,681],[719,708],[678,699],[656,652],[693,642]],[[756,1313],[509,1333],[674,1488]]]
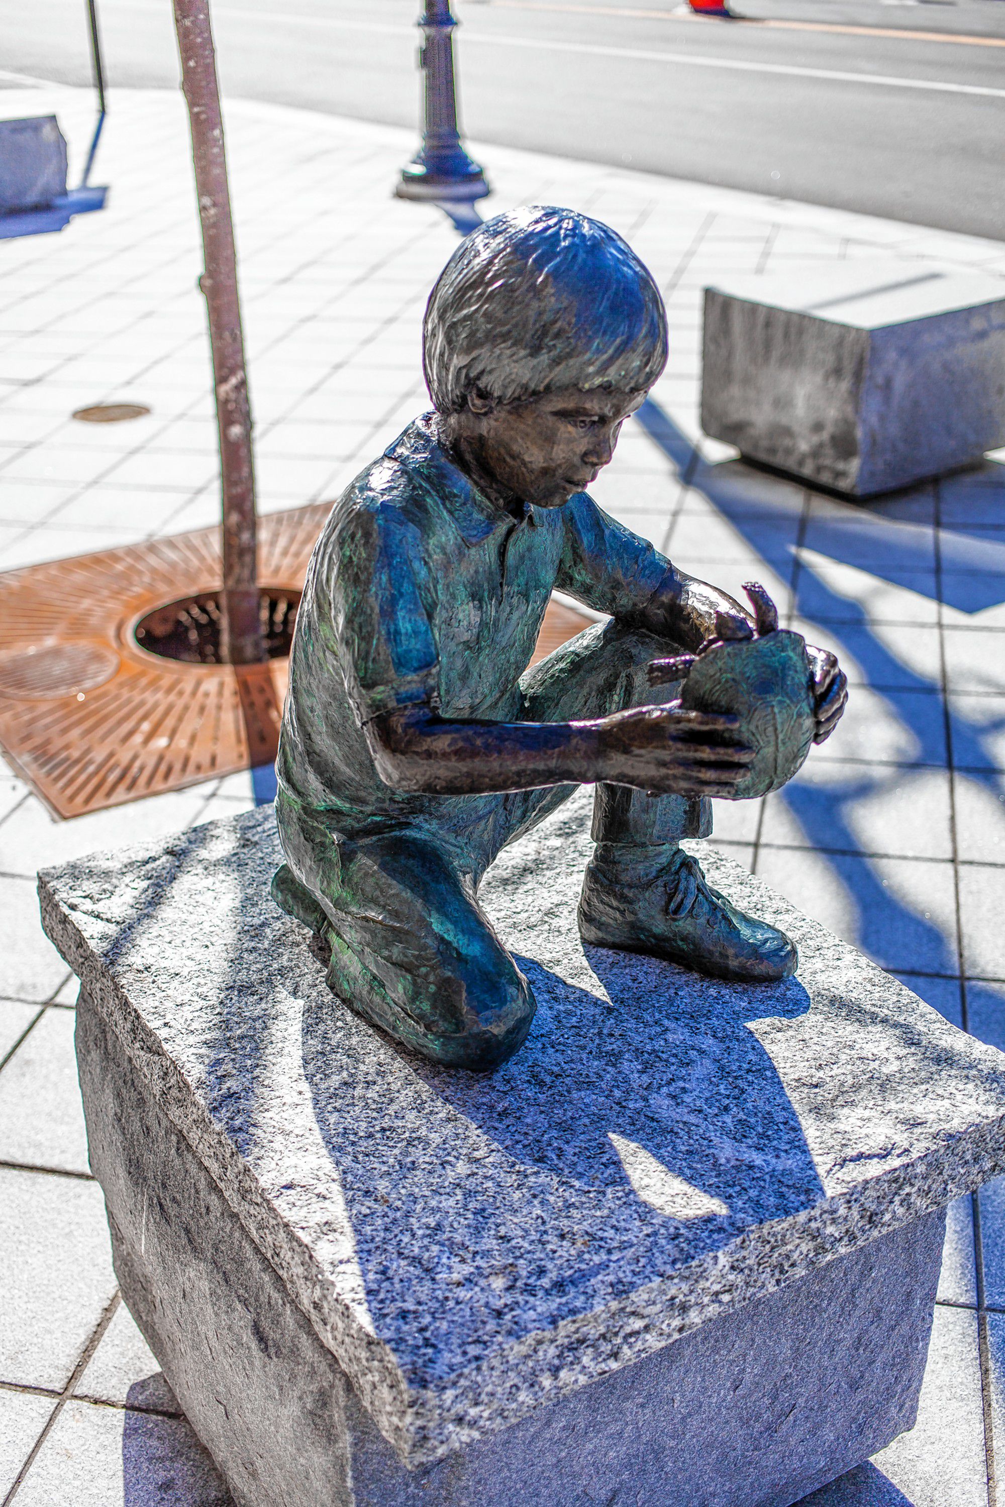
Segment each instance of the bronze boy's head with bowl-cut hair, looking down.
[[505,491],[556,506],[613,452],[666,365],[658,288],[606,225],[573,209],[496,216],[426,306],[423,365],[448,434]]

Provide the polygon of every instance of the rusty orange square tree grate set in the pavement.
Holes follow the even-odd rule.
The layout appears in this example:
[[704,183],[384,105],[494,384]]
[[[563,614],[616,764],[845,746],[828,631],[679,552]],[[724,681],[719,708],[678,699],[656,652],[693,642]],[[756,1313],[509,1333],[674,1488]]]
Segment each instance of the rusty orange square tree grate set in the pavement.
[[[136,639],[179,600],[206,612],[220,580],[218,529],[0,574],[0,746],[56,815],[102,811],[276,757],[288,663],[279,639],[288,642],[330,506],[259,520],[259,583],[277,634],[277,657],[267,665],[182,662]],[[586,625],[551,603],[535,659]]]

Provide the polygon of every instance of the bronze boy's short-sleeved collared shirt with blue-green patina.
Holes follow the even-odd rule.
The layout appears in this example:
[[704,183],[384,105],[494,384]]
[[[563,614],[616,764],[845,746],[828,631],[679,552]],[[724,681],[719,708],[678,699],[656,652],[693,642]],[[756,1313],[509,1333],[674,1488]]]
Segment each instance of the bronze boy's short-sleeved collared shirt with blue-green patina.
[[[457,720],[521,716],[551,591],[661,630],[669,561],[579,493],[561,508],[496,508],[451,460],[435,414],[405,433],[331,509],[307,570],[277,773],[286,796],[350,835],[420,817],[429,802],[380,779],[363,732],[426,704]],[[440,805],[440,809],[441,805]]]

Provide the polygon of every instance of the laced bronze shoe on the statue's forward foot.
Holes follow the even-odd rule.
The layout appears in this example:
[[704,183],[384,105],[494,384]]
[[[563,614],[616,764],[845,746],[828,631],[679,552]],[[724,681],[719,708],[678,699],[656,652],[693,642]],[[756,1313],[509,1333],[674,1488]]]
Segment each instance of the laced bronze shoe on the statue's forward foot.
[[746,984],[788,978],[799,963],[784,931],[731,906],[677,845],[598,844],[586,865],[579,930],[594,946],[651,952]]

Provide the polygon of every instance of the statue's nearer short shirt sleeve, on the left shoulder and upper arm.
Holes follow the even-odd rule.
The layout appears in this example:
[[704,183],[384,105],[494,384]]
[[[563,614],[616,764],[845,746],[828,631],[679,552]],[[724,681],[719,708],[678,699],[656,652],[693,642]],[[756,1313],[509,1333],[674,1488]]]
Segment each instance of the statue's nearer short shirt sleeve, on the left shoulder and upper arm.
[[331,567],[338,657],[360,723],[393,707],[435,705],[438,656],[419,532],[396,508],[360,509]]

